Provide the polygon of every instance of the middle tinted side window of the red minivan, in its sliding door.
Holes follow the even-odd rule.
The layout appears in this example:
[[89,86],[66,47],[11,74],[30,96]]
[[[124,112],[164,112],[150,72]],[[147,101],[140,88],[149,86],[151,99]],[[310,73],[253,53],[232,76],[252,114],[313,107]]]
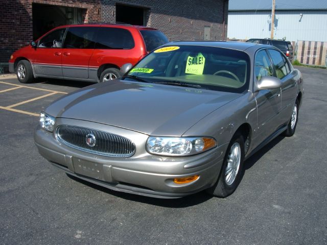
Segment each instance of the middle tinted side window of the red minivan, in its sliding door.
[[64,48],[94,48],[97,28],[71,27],[63,44]]

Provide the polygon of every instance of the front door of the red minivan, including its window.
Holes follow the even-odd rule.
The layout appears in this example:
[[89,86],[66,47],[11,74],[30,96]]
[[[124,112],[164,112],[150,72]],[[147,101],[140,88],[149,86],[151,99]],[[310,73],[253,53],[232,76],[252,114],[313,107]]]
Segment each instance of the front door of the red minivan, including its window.
[[33,48],[31,63],[36,76],[62,77],[61,56],[65,28],[56,29],[42,37]]

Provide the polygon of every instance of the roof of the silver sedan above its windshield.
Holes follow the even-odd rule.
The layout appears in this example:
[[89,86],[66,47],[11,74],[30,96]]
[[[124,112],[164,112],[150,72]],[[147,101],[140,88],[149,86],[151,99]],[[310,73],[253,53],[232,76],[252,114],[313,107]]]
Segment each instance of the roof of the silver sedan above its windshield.
[[247,48],[255,46],[256,44],[250,42],[234,42],[234,41],[174,41],[174,42],[166,43],[163,46],[172,46],[172,45],[222,47],[222,48],[229,48],[232,50],[245,51],[247,50]]

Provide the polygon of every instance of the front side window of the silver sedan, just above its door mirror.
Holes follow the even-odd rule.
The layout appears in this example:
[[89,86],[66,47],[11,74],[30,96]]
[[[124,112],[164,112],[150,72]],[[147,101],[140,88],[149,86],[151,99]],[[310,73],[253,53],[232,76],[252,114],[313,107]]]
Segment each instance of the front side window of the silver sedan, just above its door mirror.
[[271,65],[268,54],[265,50],[259,51],[255,55],[254,60],[254,76],[257,81],[260,81],[262,77],[272,76],[273,67]]

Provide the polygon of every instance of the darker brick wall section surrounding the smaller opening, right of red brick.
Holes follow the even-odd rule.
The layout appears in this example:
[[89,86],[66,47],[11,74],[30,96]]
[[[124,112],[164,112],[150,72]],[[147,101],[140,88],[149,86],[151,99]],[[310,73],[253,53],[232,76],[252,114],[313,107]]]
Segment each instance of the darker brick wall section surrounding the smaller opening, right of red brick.
[[228,0],[102,0],[102,21],[115,21],[116,3],[145,8],[145,25],[164,32],[171,41],[203,40],[204,27],[211,27],[211,40],[227,37]]

